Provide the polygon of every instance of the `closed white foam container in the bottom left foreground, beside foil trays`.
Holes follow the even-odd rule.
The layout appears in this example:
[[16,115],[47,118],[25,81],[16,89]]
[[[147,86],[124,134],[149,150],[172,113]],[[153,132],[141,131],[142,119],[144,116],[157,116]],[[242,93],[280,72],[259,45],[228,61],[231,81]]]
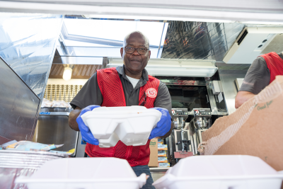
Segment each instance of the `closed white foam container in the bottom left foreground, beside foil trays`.
[[125,159],[69,158],[47,161],[15,183],[25,183],[28,189],[138,189],[146,183],[146,174],[137,177]]

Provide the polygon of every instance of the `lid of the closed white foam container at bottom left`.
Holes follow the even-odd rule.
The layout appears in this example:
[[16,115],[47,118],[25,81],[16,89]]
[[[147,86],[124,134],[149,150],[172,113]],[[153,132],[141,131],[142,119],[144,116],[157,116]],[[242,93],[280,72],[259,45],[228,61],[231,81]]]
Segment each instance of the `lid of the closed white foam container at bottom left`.
[[146,183],[146,174],[137,177],[125,159],[69,158],[47,161],[33,176],[16,180],[16,183],[91,182],[136,182],[141,188]]

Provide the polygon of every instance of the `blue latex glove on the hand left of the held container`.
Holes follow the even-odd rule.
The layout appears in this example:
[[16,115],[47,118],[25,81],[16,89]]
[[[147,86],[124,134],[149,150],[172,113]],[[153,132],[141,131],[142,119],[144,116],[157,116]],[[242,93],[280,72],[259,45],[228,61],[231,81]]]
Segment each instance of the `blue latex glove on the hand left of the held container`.
[[94,145],[99,144],[98,139],[93,137],[91,130],[89,130],[89,128],[84,124],[83,119],[81,119],[81,115],[83,115],[83,113],[86,113],[98,107],[100,106],[99,105],[88,105],[88,107],[83,108],[83,110],[81,110],[80,115],[78,116],[78,118],[76,118],[76,122],[79,125],[79,130],[81,131],[81,137],[83,138],[85,142],[89,144],[94,144]]

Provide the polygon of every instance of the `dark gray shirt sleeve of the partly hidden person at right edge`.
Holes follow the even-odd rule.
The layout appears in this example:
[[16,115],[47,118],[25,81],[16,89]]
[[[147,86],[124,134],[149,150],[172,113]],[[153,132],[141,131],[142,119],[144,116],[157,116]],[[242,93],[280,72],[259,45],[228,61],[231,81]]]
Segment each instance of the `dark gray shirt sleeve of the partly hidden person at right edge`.
[[[278,54],[283,59],[282,53]],[[250,65],[248,72],[243,80],[239,91],[248,91],[258,94],[263,88],[270,84],[270,70],[267,67],[265,59],[258,57]]]

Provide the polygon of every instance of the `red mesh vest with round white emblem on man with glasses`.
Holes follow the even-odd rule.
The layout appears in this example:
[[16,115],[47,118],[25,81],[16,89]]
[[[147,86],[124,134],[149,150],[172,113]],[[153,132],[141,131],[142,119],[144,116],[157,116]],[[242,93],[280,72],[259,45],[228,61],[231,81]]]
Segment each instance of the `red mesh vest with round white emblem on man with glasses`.
[[[101,106],[126,106],[124,90],[116,68],[98,70],[97,79],[103,96]],[[148,88],[154,88],[157,94],[159,83],[158,79],[149,76],[149,81],[139,88],[139,105],[144,105],[146,108],[154,108],[156,97],[150,98],[146,96],[146,101],[144,101],[144,94]],[[119,141],[115,147],[110,148],[100,148],[96,145],[86,144],[86,154],[91,157],[117,157],[126,159],[130,166],[145,166],[149,164],[149,142],[150,140],[144,146],[133,147],[126,146]]]

